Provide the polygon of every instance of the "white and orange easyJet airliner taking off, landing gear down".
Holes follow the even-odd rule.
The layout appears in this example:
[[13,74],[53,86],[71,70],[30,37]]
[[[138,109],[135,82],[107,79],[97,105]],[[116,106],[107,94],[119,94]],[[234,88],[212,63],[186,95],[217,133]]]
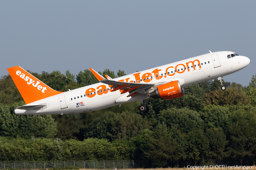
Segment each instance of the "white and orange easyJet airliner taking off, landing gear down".
[[184,87],[222,78],[246,67],[250,59],[230,51],[211,52],[118,78],[102,75],[90,68],[100,81],[67,92],[57,92],[19,66],[8,68],[26,105],[15,114],[70,114],[90,112],[122,103],[140,101],[139,110],[148,112],[146,100],[175,99]]

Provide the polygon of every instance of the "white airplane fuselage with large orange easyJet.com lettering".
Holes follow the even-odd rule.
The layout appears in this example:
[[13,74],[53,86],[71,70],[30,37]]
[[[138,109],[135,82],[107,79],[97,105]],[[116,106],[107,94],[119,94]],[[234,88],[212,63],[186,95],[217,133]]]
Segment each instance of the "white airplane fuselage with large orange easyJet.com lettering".
[[[233,54],[233,57],[228,56],[231,54]],[[179,80],[180,86],[186,87],[229,75],[243,69],[249,64],[249,58],[245,56],[234,56],[234,54],[234,52],[229,51],[212,52],[112,80],[137,83],[164,83]],[[153,88],[150,88],[141,92],[141,94],[148,94],[152,90]],[[15,109],[15,114],[70,114],[90,112],[141,99],[140,95],[127,97],[128,92],[121,94],[120,90],[111,91],[112,88],[110,85],[99,82],[34,101],[27,105],[46,104],[46,106],[40,110]]]

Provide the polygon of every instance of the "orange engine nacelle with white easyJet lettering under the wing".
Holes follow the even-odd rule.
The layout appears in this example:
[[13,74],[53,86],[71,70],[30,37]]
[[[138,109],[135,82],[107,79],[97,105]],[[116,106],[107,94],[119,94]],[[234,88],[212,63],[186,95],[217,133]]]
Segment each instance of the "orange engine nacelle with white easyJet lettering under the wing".
[[184,95],[184,89],[180,87],[179,80],[162,84],[156,87],[154,92],[149,94],[149,97],[154,99],[175,99]]

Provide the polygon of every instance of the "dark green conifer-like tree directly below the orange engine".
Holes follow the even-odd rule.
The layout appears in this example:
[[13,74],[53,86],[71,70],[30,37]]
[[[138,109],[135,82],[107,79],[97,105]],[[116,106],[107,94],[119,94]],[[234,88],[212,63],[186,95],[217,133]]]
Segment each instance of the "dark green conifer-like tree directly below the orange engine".
[[147,136],[144,154],[148,162],[154,162],[157,167],[167,167],[170,162],[183,158],[185,150],[185,138],[181,131],[174,127],[169,130],[165,124],[158,124]]

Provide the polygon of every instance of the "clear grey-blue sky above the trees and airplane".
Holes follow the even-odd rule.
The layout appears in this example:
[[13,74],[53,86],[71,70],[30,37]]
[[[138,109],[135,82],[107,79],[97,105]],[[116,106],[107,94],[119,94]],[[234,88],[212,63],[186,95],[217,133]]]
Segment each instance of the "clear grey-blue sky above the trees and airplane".
[[206,54],[250,58],[225,81],[255,75],[256,1],[0,1],[0,76],[123,70],[126,74]]

